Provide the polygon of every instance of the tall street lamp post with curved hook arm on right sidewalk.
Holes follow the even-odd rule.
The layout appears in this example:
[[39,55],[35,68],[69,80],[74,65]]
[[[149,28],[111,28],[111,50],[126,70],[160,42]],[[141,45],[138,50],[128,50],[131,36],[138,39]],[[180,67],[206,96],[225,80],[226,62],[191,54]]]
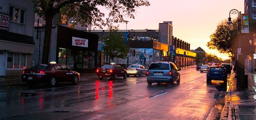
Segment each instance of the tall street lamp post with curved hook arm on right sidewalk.
[[242,53],[238,53],[238,49],[241,49],[241,11],[239,12],[237,9],[232,9],[229,12],[229,18],[227,21],[228,25],[232,24],[230,14],[238,14],[238,48],[237,48],[237,62],[236,62],[236,73],[237,73],[237,86],[242,87],[242,84],[245,80],[244,75],[244,55]]

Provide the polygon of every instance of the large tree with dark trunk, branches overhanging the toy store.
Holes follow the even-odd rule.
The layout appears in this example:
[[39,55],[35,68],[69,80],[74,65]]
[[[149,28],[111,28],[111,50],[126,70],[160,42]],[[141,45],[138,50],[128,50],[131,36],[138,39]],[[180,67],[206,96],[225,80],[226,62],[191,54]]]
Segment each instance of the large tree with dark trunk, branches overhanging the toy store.
[[[56,14],[65,15],[63,19],[75,19],[82,26],[94,25],[102,28],[113,23],[124,23],[124,18],[133,18],[134,13],[140,6],[148,6],[148,0],[32,0],[35,13],[45,20],[44,47],[42,63],[48,63],[50,36],[52,32],[53,17]],[[100,7],[108,9],[109,15],[106,20],[105,14]],[[105,11],[104,11],[105,12]]]

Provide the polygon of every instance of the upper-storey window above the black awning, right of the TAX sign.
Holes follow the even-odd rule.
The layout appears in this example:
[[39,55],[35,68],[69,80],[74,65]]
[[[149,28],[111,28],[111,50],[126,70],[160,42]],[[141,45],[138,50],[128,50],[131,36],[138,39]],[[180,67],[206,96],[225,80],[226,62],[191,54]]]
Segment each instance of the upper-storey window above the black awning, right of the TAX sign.
[[9,8],[10,21],[24,24],[25,10],[10,6]]

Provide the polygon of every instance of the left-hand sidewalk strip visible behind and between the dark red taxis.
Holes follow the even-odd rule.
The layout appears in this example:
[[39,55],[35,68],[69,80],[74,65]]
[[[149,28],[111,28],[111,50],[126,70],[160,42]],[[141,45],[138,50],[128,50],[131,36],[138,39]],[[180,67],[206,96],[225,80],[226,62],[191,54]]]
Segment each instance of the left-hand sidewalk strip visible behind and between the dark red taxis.
[[[82,73],[80,81],[98,78],[96,73]],[[12,86],[27,84],[21,81],[21,76],[5,76],[0,77],[0,86]]]

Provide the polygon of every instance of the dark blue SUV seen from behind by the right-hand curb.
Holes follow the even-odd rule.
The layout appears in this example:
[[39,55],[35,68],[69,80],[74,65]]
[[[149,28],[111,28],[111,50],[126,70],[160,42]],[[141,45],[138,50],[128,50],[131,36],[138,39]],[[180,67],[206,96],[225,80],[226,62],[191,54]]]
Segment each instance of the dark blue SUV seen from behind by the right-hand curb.
[[206,81],[211,83],[211,80],[221,80],[224,84],[227,84],[227,72],[224,66],[211,66],[207,71]]

